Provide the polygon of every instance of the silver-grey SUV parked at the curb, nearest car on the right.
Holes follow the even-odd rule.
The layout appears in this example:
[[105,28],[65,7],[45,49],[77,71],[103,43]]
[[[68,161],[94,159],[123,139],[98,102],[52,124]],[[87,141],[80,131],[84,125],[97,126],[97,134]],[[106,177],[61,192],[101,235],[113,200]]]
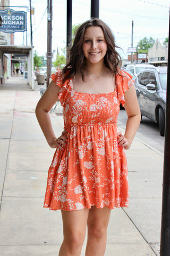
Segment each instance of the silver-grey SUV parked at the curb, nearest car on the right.
[[135,89],[141,117],[159,124],[160,135],[165,133],[167,67],[142,69],[135,78]]

